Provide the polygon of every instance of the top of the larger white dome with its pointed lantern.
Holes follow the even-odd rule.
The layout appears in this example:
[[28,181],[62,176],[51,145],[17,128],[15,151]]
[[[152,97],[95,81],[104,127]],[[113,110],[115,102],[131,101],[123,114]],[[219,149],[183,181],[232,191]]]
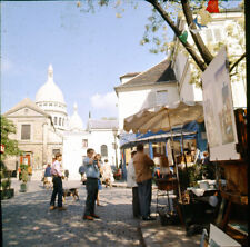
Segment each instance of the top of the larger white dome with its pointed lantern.
[[48,102],[48,101],[66,105],[62,91],[53,82],[53,68],[51,65],[49,66],[49,69],[48,69],[47,82],[38,90],[36,95],[36,103]]

